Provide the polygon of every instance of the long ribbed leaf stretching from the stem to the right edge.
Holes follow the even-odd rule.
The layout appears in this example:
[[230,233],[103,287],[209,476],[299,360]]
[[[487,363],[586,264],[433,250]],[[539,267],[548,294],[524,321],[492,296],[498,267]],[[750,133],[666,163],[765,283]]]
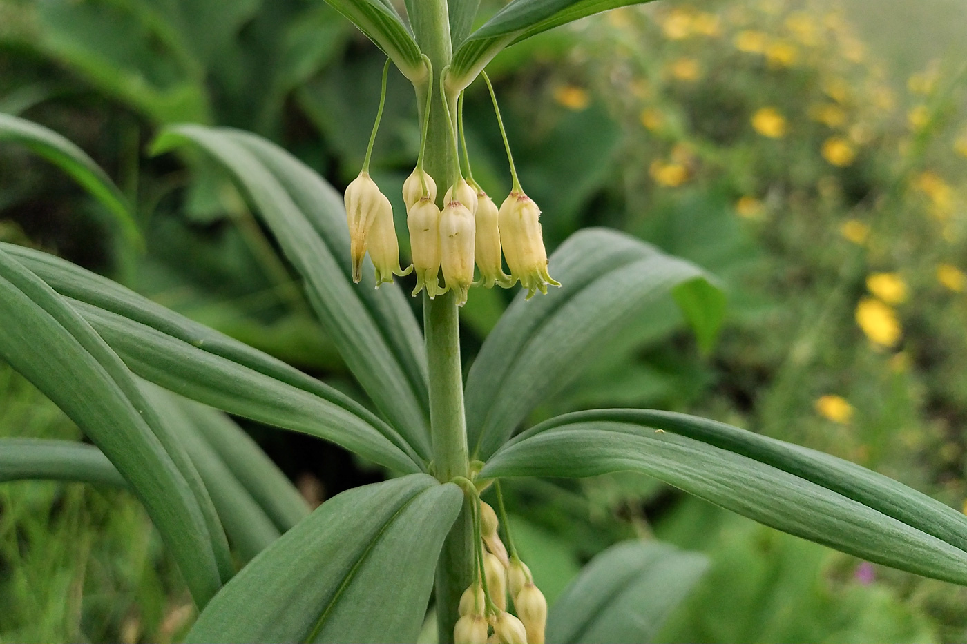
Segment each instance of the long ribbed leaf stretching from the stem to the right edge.
[[481,477],[648,474],[809,541],[967,585],[967,517],[859,465],[684,414],[614,409],[532,427]]

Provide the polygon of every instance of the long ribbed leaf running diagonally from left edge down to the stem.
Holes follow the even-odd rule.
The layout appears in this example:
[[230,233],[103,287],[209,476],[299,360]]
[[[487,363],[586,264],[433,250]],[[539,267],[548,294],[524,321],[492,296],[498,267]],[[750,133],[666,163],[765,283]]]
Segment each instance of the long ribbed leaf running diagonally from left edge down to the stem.
[[358,449],[400,472],[419,471],[419,457],[392,427],[298,369],[63,259],[10,244],[0,251],[71,298],[141,377],[223,411]]

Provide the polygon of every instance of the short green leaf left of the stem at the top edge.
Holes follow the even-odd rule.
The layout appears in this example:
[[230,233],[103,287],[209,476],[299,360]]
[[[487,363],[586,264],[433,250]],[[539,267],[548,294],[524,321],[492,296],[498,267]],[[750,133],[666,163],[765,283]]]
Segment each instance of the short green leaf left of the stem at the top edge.
[[337,12],[359,27],[366,37],[393,59],[413,82],[426,77],[423,53],[413,35],[387,0],[326,0]]

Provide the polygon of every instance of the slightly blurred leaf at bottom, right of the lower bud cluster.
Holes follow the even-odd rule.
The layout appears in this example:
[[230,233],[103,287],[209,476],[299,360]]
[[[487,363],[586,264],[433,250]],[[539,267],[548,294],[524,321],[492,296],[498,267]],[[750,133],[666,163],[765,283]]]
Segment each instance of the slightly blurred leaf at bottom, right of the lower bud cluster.
[[708,569],[667,543],[624,542],[591,560],[551,606],[547,641],[650,642]]

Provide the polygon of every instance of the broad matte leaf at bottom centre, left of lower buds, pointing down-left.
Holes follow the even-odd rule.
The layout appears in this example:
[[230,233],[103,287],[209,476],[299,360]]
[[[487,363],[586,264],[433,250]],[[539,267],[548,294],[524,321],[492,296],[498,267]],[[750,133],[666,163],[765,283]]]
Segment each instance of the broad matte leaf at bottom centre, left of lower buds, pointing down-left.
[[416,641],[462,498],[425,474],[338,494],[226,584],[188,641]]

